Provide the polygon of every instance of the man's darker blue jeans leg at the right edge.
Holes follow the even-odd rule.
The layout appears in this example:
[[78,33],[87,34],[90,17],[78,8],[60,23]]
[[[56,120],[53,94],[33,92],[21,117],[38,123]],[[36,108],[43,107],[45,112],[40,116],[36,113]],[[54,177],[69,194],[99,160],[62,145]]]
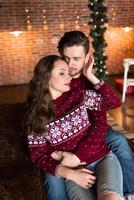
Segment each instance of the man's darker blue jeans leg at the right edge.
[[106,143],[120,162],[124,194],[134,192],[134,157],[126,137],[122,133],[108,129]]

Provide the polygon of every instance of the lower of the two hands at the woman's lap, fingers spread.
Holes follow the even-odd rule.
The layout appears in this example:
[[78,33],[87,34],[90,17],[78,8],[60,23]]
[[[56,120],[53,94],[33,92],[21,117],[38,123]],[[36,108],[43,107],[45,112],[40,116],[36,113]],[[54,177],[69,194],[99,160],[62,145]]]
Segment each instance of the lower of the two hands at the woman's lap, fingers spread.
[[93,175],[93,171],[83,168],[72,170],[68,174],[67,179],[74,181],[85,189],[88,189],[94,185],[96,177]]

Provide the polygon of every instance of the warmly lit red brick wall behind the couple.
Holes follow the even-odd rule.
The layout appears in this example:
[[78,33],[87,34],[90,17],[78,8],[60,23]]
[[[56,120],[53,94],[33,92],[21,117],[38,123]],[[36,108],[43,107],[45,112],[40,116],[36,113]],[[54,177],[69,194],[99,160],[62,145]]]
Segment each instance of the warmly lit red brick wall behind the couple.
[[[106,33],[109,73],[122,73],[122,60],[134,57],[134,0],[109,0]],[[64,31],[87,35],[88,0],[29,0],[0,2],[0,85],[27,83],[36,62],[57,52]],[[129,32],[123,30],[129,26]],[[18,37],[10,32],[23,31]]]

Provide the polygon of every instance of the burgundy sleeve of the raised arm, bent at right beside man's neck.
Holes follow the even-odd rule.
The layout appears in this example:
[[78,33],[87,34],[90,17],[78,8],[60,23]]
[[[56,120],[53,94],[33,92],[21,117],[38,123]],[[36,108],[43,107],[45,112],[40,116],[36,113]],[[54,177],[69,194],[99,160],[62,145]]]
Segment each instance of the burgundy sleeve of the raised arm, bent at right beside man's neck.
[[104,81],[100,81],[96,86],[94,86],[94,89],[96,89],[97,93],[103,96],[107,110],[117,108],[121,105],[121,100],[117,97],[112,88]]

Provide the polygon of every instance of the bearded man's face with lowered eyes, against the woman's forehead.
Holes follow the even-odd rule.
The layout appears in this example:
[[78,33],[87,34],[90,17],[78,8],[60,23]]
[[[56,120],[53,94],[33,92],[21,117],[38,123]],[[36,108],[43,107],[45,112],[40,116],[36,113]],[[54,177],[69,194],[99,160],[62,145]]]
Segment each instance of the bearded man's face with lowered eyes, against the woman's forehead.
[[87,62],[88,54],[85,55],[83,46],[65,47],[63,56],[69,65],[69,73],[73,78],[78,78]]

